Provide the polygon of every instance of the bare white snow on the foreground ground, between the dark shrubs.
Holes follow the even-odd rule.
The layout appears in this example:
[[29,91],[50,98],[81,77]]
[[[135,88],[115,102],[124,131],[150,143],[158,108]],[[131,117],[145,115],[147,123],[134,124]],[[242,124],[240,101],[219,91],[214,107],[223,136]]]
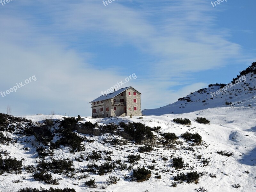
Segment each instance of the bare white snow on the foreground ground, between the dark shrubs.
[[[167,191],[195,191],[195,188],[204,187],[208,192],[233,192],[233,191],[255,191],[256,190],[256,125],[255,125],[255,107],[226,107],[226,108],[210,108],[205,110],[199,110],[186,114],[168,114],[162,116],[143,116],[143,119],[139,117],[133,117],[132,119],[127,117],[113,117],[102,119],[101,123],[120,122],[120,121],[134,121],[141,122],[150,127],[161,126],[160,132],[174,132],[178,136],[186,131],[198,132],[203,142],[200,146],[194,146],[195,151],[186,150],[188,148],[188,142],[180,138],[183,142],[182,145],[177,146],[178,150],[168,149],[165,146],[155,146],[154,150],[149,153],[140,153],[142,157],[138,164],[134,166],[151,165],[152,160],[156,159],[155,170],[152,170],[152,176],[149,180],[137,183],[124,179],[124,175],[132,175],[131,170],[115,170],[112,173],[108,173],[104,176],[96,174],[89,174],[87,179],[83,180],[72,180],[68,179],[65,175],[52,174],[53,178],[62,178],[59,181],[59,185],[47,185],[44,182],[35,181],[32,174],[26,174],[25,171],[22,174],[6,174],[0,176],[0,191],[9,192],[17,191],[19,188],[35,187],[40,188],[74,188],[77,192],[82,191],[113,191],[113,192],[128,192],[128,191],[146,191],[149,192],[167,192]],[[206,117],[211,121],[211,124],[203,125],[198,124],[194,121],[196,117]],[[28,119],[32,119],[34,122],[41,122],[46,116],[26,116]],[[181,125],[174,123],[173,118],[182,117],[191,120],[191,125]],[[53,119],[61,119],[62,116],[53,116]],[[96,122],[96,119],[86,118],[85,121]],[[159,137],[158,133],[154,133]],[[248,135],[248,136],[246,136]],[[54,150],[54,158],[70,158],[73,161],[76,168],[84,168],[88,162],[78,162],[75,157],[80,154],[87,155],[92,150],[113,150],[113,154],[110,155],[113,160],[121,159],[127,160],[127,156],[130,154],[139,154],[138,147],[141,145],[135,145],[134,143],[127,140],[126,145],[110,145],[103,142],[104,139],[119,138],[110,134],[103,134],[100,136],[85,135],[94,142],[84,141],[86,150],[81,153],[70,153],[68,148],[62,148]],[[15,137],[12,135],[12,137]],[[0,149],[4,149],[10,152],[8,156],[17,157],[17,159],[24,158],[23,166],[36,164],[37,158],[36,149],[33,148],[32,144],[36,143],[34,137],[28,137],[31,139],[30,142],[25,142],[25,137],[19,138],[19,142],[16,144],[0,145]],[[25,151],[24,147],[29,147],[28,151]],[[233,152],[234,155],[227,157],[221,156],[216,153],[216,150],[227,150]],[[210,165],[203,166],[200,160],[196,159],[197,156],[202,155],[202,158],[208,158]],[[104,156],[104,155],[102,155]],[[189,167],[185,170],[177,171],[171,167],[172,157],[181,156],[185,163],[189,164]],[[165,162],[162,157],[167,157],[168,160]],[[49,159],[48,157],[46,160]],[[96,163],[105,162],[103,159]],[[89,163],[92,163],[89,160]],[[129,163],[127,163],[129,166]],[[204,176],[200,177],[199,183],[181,183],[177,184],[177,187],[171,187],[173,176],[179,172],[190,172],[190,168],[194,167],[193,171],[197,172],[208,172]],[[168,172],[169,170],[169,172]],[[159,172],[161,179],[155,178],[155,173]],[[247,172],[247,173],[246,173]],[[210,173],[216,174],[216,178],[211,178]],[[80,175],[78,173],[77,175]],[[115,175],[120,178],[117,184],[106,185],[106,179],[109,175]],[[97,188],[87,188],[84,185],[86,180],[95,178],[98,183]],[[13,183],[14,180],[21,180],[22,183]],[[76,185],[74,185],[76,184]],[[240,188],[233,188],[232,184],[240,184]],[[107,187],[106,189],[100,189],[101,186]]]

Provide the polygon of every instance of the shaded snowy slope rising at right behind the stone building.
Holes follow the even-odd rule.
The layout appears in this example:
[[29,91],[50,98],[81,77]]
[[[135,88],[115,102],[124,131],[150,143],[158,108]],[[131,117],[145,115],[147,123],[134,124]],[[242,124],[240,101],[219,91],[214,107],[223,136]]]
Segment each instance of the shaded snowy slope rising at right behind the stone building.
[[[236,79],[236,78],[235,78]],[[143,115],[180,114],[216,107],[256,106],[256,62],[240,72],[237,80],[227,85],[212,85],[180,98],[175,103],[156,109],[144,109]],[[231,85],[232,84],[232,85]],[[220,92],[219,92],[220,91]]]

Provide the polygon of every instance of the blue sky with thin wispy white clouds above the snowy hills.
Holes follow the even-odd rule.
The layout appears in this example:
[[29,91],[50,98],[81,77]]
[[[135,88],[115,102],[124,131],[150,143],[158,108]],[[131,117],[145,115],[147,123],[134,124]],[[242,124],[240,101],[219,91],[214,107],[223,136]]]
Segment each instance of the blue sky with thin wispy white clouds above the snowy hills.
[[[214,2],[214,1],[213,1]],[[142,109],[228,83],[256,61],[254,0],[13,0],[0,4],[0,111],[90,116],[89,102],[120,88]]]

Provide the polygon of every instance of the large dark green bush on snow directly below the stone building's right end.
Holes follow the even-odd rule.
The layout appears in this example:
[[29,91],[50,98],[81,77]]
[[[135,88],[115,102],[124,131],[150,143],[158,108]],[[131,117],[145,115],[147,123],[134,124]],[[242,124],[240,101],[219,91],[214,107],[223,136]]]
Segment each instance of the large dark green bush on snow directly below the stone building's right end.
[[119,126],[123,127],[124,131],[128,132],[136,142],[141,142],[144,139],[152,140],[154,138],[154,134],[151,132],[150,127],[145,126],[145,124],[136,122],[128,122],[128,124],[125,124],[120,122]]

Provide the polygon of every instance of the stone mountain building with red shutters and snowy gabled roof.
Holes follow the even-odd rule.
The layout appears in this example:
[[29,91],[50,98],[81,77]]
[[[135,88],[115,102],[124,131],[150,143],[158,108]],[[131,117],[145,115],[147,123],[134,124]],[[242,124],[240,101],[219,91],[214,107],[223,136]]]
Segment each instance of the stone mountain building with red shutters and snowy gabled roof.
[[91,101],[92,118],[111,116],[140,116],[141,93],[133,87],[125,87],[118,91],[101,95]]

